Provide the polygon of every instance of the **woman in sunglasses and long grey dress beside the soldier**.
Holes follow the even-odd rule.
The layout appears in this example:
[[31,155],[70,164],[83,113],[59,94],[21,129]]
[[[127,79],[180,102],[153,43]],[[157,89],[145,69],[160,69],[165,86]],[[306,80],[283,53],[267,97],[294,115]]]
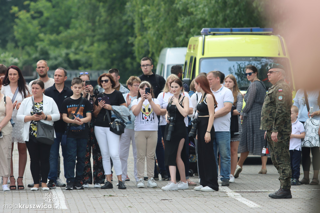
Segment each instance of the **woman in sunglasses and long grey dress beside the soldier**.
[[[240,119],[242,120],[242,136],[240,139],[238,160],[234,177],[239,177],[242,166],[249,154],[260,155],[262,166],[259,174],[267,174],[268,156],[262,156],[262,149],[265,146],[264,130],[260,130],[261,109],[266,96],[266,87],[258,79],[258,69],[255,66],[248,65],[245,67],[245,75],[251,82],[244,95],[245,106],[242,109]],[[269,155],[269,154],[268,154]]]

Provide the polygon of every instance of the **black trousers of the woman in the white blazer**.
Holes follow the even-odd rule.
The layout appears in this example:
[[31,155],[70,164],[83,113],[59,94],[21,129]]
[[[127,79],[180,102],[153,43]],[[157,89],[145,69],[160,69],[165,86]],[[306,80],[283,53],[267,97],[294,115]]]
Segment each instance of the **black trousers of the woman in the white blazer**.
[[30,170],[34,184],[39,184],[39,172],[41,170],[41,182],[47,183],[50,170],[50,149],[51,145],[38,143],[36,137],[29,135],[29,141],[26,141],[27,149],[30,155]]

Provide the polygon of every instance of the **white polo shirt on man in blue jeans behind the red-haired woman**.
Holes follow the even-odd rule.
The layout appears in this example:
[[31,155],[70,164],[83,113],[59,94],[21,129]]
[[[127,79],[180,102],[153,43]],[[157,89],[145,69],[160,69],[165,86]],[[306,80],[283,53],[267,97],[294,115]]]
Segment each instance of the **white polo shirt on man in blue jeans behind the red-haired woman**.
[[[214,95],[218,103],[218,106],[214,110],[214,112],[217,112],[219,109],[224,107],[224,103],[226,102],[230,102],[231,104],[233,104],[234,99],[233,99],[232,91],[226,88],[225,86],[222,86],[219,90],[215,92],[212,91],[212,94]],[[231,119],[231,112],[229,112],[228,114],[222,117],[215,118],[213,121],[214,131],[216,132],[230,131],[230,119]]]

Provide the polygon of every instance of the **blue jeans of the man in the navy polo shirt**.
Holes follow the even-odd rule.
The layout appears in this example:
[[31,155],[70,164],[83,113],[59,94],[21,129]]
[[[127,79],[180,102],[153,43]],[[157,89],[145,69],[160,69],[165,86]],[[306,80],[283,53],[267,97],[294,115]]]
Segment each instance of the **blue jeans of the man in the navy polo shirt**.
[[[50,149],[50,170],[48,179],[53,180],[57,184],[58,178],[58,156],[59,156],[59,149],[60,149],[60,142],[62,137],[62,132],[56,132],[56,138],[54,138],[54,143],[51,145]],[[65,147],[61,146],[62,149],[62,156],[63,159],[65,158]]]

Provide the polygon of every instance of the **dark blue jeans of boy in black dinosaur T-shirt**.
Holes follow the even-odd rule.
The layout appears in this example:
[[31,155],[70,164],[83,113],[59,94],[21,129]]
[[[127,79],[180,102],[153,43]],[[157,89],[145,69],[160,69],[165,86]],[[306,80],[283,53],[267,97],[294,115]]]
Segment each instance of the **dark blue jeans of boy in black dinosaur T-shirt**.
[[77,182],[83,178],[87,141],[87,138],[67,138],[66,152],[63,157],[64,177],[67,179],[67,182]]

